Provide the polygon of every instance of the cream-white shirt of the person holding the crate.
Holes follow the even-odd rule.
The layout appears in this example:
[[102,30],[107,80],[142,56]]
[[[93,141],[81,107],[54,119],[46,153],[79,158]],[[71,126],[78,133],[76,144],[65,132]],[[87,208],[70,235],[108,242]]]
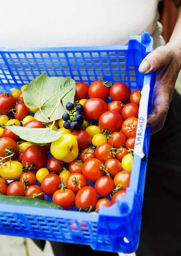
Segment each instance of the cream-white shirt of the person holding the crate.
[[153,33],[159,0],[6,0],[0,47],[125,45]]

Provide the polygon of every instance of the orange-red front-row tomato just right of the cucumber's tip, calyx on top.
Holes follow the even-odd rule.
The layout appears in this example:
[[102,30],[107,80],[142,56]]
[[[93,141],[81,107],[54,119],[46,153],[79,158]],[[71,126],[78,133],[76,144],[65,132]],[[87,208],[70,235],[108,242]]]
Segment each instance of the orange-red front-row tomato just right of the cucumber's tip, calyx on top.
[[58,189],[53,194],[53,203],[58,204],[64,210],[70,209],[75,203],[75,193],[71,189],[65,189],[62,191]]

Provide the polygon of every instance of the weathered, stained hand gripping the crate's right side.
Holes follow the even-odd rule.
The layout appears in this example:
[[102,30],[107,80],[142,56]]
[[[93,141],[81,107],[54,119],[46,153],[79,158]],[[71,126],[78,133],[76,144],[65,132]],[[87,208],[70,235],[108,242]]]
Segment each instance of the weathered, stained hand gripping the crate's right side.
[[139,66],[139,72],[144,74],[156,71],[153,109],[147,117],[146,125],[152,127],[151,134],[163,128],[180,69],[181,49],[169,43],[149,53]]

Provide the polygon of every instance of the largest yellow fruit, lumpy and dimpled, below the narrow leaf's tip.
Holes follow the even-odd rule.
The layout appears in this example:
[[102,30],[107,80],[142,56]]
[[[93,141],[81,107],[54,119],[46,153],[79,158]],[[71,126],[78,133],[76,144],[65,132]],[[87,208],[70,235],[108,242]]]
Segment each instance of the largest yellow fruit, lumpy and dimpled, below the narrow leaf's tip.
[[74,135],[64,133],[51,143],[50,152],[54,158],[70,163],[78,157],[78,143]]

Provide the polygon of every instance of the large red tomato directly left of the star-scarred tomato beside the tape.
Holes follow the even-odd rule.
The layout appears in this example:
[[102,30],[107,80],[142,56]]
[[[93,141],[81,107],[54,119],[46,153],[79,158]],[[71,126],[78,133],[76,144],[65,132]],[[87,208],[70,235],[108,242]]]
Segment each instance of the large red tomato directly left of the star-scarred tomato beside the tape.
[[106,111],[99,118],[99,128],[102,131],[103,129],[108,129],[112,133],[119,132],[123,119],[121,115],[116,111]]

